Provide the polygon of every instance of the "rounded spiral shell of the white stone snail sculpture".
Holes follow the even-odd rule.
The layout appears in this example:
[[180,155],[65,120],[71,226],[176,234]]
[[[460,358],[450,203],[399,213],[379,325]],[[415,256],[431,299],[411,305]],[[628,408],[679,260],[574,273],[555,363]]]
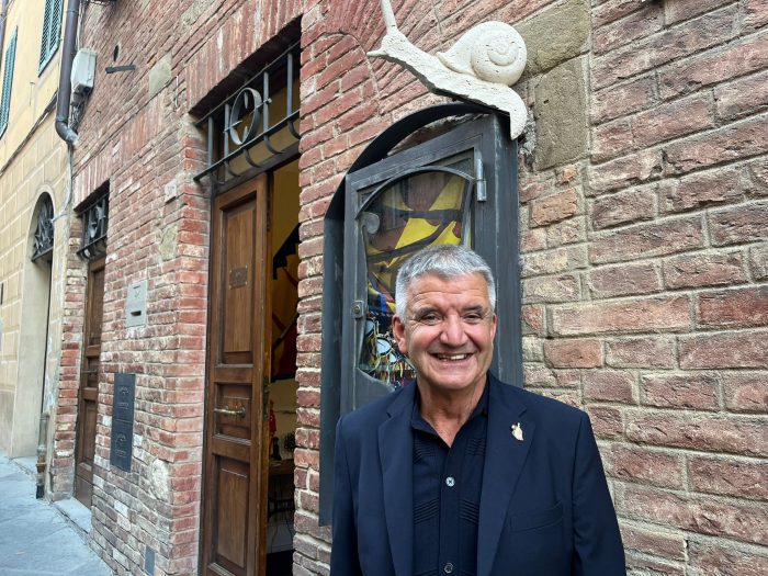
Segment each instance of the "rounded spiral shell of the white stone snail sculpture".
[[520,78],[528,57],[522,36],[505,22],[478,24],[437,56],[451,70],[507,86]]

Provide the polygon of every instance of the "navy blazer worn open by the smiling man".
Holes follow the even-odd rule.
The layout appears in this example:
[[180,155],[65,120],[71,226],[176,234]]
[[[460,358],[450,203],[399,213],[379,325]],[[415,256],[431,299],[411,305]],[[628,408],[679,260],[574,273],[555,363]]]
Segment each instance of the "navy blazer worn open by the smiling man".
[[[625,575],[587,415],[492,375],[488,386],[477,576]],[[415,389],[339,420],[331,576],[413,576]]]

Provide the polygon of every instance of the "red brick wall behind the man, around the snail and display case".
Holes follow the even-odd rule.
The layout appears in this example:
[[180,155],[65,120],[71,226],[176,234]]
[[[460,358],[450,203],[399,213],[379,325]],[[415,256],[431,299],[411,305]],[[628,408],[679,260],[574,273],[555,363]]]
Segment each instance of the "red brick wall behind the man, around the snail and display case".
[[[345,5],[340,5],[345,4]],[[631,574],[768,569],[768,10],[761,0],[393,1],[419,47],[516,23],[526,386],[594,422]],[[437,101],[368,59],[377,1],[303,20],[296,574],[317,527],[321,217],[360,150]],[[312,244],[310,244],[312,242]]]

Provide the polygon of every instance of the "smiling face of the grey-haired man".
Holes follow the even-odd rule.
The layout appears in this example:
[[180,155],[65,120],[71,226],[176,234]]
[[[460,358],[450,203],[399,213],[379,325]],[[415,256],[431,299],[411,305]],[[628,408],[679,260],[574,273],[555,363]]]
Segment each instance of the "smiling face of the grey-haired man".
[[484,382],[496,334],[485,279],[427,274],[410,283],[408,296],[405,318],[395,316],[393,331],[419,386],[450,394]]

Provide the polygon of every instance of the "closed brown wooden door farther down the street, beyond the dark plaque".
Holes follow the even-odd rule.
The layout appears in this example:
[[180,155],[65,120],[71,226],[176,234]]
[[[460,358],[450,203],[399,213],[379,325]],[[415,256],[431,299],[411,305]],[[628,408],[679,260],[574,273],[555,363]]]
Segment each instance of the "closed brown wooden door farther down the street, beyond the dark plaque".
[[99,411],[99,355],[104,309],[103,258],[91,262],[88,267],[86,298],[84,342],[78,395],[75,497],[90,508],[93,495],[93,454]]

